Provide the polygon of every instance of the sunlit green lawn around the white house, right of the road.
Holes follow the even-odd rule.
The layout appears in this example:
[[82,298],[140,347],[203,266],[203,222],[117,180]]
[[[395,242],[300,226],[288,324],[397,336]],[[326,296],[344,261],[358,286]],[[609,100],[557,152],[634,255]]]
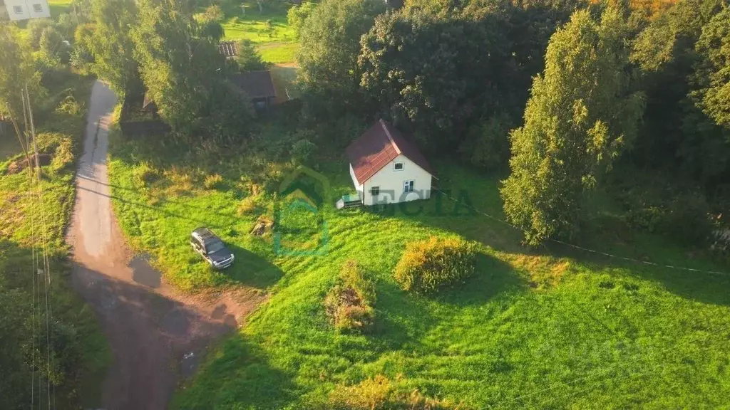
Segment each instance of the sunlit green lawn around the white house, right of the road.
[[[270,237],[247,233],[255,214],[237,216],[242,198],[235,190],[193,190],[166,200],[145,196],[134,182],[137,161],[149,158],[144,152],[125,150],[115,157],[112,148],[112,195],[134,243],[155,255],[173,281],[240,282],[272,293],[239,334],[207,357],[174,407],[317,408],[337,384],[377,374],[396,381],[399,390],[418,389],[462,403],[462,409],[730,403],[728,276],[594,259],[554,247],[528,252],[512,228],[444,197],[392,214],[336,212],[334,197],[352,190],[344,162],[321,164],[332,193],[322,210],[326,235],[311,217],[283,222],[292,235],[287,244],[299,232],[301,247],[312,249],[326,237],[326,250],[277,257]],[[172,172],[170,163],[161,167]],[[231,187],[246,166],[226,159],[217,168]],[[436,173],[450,196],[464,192],[461,201],[502,217],[497,178],[452,163],[437,164]],[[307,221],[309,229],[301,226]],[[231,271],[213,274],[188,249],[188,233],[201,224],[222,233],[236,250]],[[482,244],[477,274],[435,297],[400,290],[391,271],[405,244],[453,233]],[[606,235],[598,242],[622,255],[718,268],[660,238],[633,239],[620,244]],[[376,325],[363,336],[334,333],[322,305],[349,259],[376,281]],[[266,268],[271,274],[261,273]]]

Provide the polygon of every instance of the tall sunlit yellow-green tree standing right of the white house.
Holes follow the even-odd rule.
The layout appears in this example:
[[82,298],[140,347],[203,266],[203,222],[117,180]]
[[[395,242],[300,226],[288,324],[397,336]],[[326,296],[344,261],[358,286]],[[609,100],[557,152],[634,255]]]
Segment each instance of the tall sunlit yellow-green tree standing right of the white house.
[[634,140],[643,99],[631,91],[627,30],[617,9],[600,22],[578,11],[550,38],[501,190],[529,244],[575,233],[586,194]]

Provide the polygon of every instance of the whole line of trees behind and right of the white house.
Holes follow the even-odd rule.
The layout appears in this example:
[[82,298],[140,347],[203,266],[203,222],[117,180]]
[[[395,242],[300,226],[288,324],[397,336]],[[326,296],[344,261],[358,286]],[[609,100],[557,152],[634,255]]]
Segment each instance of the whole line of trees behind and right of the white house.
[[[577,235],[617,168],[715,205],[730,182],[725,1],[324,0],[299,30],[307,109],[383,116],[424,150],[509,171],[504,211],[529,244]],[[658,220],[708,227],[711,206],[675,205]]]

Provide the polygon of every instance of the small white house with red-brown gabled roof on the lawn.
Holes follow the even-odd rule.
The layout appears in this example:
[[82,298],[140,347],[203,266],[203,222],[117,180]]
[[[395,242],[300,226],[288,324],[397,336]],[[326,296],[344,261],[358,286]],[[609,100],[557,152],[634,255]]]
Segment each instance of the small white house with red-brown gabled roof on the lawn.
[[414,144],[385,120],[345,151],[350,177],[364,205],[431,198],[431,166]]

